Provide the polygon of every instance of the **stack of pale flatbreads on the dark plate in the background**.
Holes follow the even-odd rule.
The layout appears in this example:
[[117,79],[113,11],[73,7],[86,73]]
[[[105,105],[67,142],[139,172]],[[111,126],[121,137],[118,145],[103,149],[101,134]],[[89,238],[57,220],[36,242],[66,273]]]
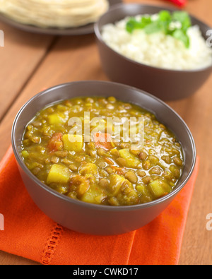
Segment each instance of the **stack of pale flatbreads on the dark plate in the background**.
[[0,13],[40,28],[77,28],[94,23],[108,8],[107,0],[0,0]]

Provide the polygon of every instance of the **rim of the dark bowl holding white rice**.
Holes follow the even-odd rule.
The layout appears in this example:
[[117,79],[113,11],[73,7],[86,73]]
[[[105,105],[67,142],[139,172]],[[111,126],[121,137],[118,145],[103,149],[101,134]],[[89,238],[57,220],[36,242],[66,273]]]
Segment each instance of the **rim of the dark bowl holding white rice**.
[[[211,66],[206,66],[204,68],[201,68],[201,69],[191,69],[191,70],[177,70],[177,69],[163,69],[163,68],[160,68],[160,67],[157,67],[157,66],[151,66],[151,65],[147,65],[147,64],[143,64],[141,62],[137,62],[137,61],[134,61],[128,57],[125,57],[124,55],[122,54],[119,54],[119,52],[116,52],[114,51],[114,49],[112,49],[108,44],[106,44],[106,42],[102,39],[102,34],[101,34],[101,31],[100,31],[100,21],[102,20],[102,18],[104,18],[105,16],[107,16],[108,14],[110,14],[111,12],[113,12],[114,10],[119,10],[120,8],[123,8],[124,6],[139,6],[139,7],[148,7],[148,8],[160,8],[161,10],[170,10],[170,11],[181,11],[179,8],[172,8],[172,7],[169,7],[169,6],[158,6],[158,5],[148,5],[148,4],[137,4],[137,3],[132,3],[132,4],[127,4],[127,3],[120,3],[120,4],[116,4],[114,6],[112,6],[110,8],[109,11],[107,11],[106,13],[104,13],[100,18],[99,20],[94,24],[94,33],[95,33],[95,37],[102,43],[105,45],[105,47],[107,47],[108,49],[110,49],[114,54],[117,54],[117,56],[119,56],[120,58],[128,61],[129,63],[132,63],[132,64],[135,64],[137,66],[143,66],[145,67],[146,69],[155,69],[155,70],[158,70],[158,71],[165,71],[165,72],[172,72],[172,73],[196,73],[196,72],[204,72],[204,71],[207,71],[209,69],[212,70],[212,64]],[[139,14],[139,13],[138,13]],[[207,25],[206,23],[204,23],[202,20],[200,20],[199,18],[196,18],[196,16],[193,16],[192,13],[189,13],[189,16],[196,20],[196,21],[199,21],[199,23],[203,24],[206,26],[206,28],[208,28],[208,30],[212,30],[212,28]]]

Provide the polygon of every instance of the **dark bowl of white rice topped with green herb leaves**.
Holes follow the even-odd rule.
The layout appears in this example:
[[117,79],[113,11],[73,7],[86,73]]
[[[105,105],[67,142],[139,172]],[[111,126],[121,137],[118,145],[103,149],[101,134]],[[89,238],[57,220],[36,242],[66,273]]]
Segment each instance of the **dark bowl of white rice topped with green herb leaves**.
[[117,4],[95,23],[107,77],[165,101],[193,95],[210,76],[209,30],[185,11],[143,4]]

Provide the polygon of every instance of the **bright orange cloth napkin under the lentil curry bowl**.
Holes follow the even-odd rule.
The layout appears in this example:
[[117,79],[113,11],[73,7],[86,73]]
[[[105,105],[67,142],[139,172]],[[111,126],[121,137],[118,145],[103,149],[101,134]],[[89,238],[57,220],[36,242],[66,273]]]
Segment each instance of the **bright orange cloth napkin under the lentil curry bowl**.
[[0,164],[0,250],[45,265],[173,265],[179,260],[199,158],[191,179],[158,218],[134,232],[93,236],[50,220],[33,203],[10,147]]

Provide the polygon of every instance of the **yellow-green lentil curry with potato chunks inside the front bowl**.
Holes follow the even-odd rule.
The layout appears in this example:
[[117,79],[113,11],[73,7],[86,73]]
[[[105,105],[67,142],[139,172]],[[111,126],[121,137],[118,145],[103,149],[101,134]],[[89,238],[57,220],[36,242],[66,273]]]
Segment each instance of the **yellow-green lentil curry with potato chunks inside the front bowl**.
[[[74,121],[76,133],[69,134],[69,119],[78,117],[84,124],[85,112],[90,118],[101,117],[102,123],[107,117],[143,117],[143,147],[134,148],[122,133],[117,140],[104,131],[86,141],[84,129],[78,134]],[[106,206],[161,198],[175,189],[183,169],[177,138],[150,112],[114,97],[77,97],[45,107],[26,126],[21,155],[28,169],[52,189]]]

